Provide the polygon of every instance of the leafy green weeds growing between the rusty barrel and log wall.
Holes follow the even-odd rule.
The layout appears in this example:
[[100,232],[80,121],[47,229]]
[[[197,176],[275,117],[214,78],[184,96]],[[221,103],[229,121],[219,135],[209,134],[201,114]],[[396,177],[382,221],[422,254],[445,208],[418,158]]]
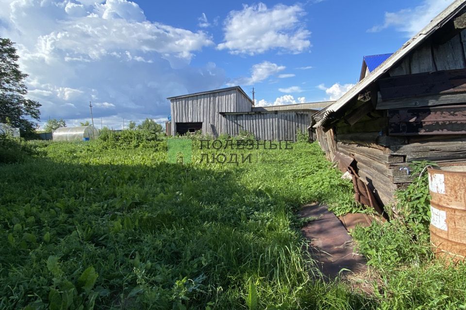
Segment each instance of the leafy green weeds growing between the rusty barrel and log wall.
[[369,264],[382,272],[407,264],[419,265],[433,257],[429,247],[430,195],[425,170],[428,165],[434,164],[412,163],[416,178],[405,190],[397,191],[396,217],[386,223],[374,222],[353,233]]

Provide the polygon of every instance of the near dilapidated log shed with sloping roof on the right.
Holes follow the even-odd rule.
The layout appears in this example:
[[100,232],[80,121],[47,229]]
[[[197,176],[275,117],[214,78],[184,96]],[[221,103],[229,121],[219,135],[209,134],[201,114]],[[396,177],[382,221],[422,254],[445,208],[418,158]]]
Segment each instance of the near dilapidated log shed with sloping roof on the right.
[[356,200],[394,202],[409,163],[466,161],[466,0],[456,0],[313,115],[327,158],[353,175]]

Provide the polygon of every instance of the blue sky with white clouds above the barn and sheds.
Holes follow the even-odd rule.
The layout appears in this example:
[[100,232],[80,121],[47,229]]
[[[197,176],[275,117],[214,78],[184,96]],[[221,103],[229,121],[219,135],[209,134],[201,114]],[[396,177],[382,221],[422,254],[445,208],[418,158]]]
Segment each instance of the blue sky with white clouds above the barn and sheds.
[[[168,96],[254,86],[259,105],[335,100],[450,0],[0,0],[42,123],[163,123]],[[251,94],[250,94],[251,95]]]

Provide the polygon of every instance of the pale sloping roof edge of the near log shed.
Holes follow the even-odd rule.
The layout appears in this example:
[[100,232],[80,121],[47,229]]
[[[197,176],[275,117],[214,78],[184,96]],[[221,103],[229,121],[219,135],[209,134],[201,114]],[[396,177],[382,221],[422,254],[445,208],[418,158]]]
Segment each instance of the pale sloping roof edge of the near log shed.
[[437,29],[445,25],[453,16],[466,7],[466,0],[455,0],[439,15],[437,15],[424,29],[419,31],[414,37],[409,39],[402,47],[399,48],[392,56],[390,56],[382,65],[378,66],[366,78],[362,79],[354,85],[348,92],[346,92],[340,99],[331,105],[324,113],[314,127],[319,127],[325,124],[334,112],[343,108],[351,99],[363,92],[367,86],[380,78],[391,67],[398,64],[409,52],[419,47],[431,34]]

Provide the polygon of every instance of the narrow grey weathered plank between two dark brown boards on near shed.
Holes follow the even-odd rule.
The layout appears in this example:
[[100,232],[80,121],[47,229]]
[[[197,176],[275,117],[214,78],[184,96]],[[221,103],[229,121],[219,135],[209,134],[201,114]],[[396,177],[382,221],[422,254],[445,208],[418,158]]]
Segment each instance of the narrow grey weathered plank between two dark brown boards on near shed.
[[404,98],[377,103],[377,110],[432,107],[466,102],[466,93],[438,94],[426,97]]

